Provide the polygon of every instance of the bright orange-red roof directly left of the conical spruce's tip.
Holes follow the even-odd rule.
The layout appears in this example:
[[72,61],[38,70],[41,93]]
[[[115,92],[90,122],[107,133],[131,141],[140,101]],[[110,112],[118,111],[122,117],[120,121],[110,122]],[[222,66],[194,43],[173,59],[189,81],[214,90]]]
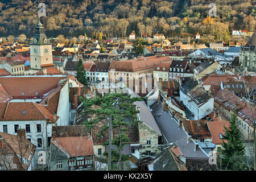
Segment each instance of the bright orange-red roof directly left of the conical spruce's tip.
[[[228,121],[210,121],[208,122],[210,133],[212,134],[212,143],[214,144],[222,144],[223,140],[220,138],[220,134],[222,136],[225,135],[224,126],[229,127]],[[224,140],[226,142],[226,140]]]

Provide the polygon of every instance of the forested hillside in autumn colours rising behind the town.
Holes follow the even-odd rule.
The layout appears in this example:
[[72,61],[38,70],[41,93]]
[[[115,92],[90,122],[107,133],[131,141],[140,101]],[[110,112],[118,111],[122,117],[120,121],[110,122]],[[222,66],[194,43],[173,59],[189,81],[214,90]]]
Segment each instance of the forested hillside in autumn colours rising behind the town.
[[[231,31],[233,28],[254,30],[256,2],[253,0],[0,0],[0,36],[32,35],[38,21],[38,4],[46,3],[47,17],[42,18],[49,36],[166,35],[181,32],[200,34]],[[217,5],[214,22],[207,23],[209,3]],[[209,28],[209,24],[210,27]]]

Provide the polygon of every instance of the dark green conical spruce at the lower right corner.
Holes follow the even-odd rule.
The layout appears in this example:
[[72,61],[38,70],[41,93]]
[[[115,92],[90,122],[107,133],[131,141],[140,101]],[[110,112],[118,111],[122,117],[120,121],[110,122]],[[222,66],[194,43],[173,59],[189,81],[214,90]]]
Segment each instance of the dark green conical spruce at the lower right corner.
[[232,114],[229,123],[229,128],[224,127],[225,135],[222,139],[226,140],[227,143],[223,141],[223,149],[218,162],[220,162],[221,170],[245,170],[245,146],[243,146],[242,134],[236,126],[236,114]]

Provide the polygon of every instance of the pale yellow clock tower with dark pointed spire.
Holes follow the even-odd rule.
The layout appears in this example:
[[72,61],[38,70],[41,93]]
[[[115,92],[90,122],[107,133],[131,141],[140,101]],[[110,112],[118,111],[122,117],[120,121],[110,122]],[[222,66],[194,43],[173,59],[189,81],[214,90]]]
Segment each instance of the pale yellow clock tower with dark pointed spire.
[[44,34],[44,27],[40,19],[36,25],[34,38],[30,42],[30,63],[31,69],[41,70],[42,65],[53,64],[52,44]]

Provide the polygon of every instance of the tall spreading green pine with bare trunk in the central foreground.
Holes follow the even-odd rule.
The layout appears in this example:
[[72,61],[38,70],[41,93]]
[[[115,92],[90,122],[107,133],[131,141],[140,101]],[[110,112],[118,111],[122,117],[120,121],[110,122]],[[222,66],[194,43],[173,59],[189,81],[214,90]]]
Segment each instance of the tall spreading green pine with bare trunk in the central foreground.
[[[111,170],[111,164],[113,160],[121,161],[126,159],[126,156],[122,155],[122,148],[129,141],[129,138],[125,134],[127,125],[138,125],[135,122],[135,116],[138,111],[135,109],[135,105],[133,102],[142,100],[143,98],[131,98],[129,95],[125,95],[122,93],[113,93],[106,94],[104,97],[96,97],[93,100],[84,99],[82,102],[82,107],[84,107],[84,112],[86,115],[94,115],[95,117],[88,119],[88,121],[84,122],[83,125],[86,126],[88,131],[92,131],[93,127],[98,123],[103,124],[104,127],[97,135],[97,137],[104,136],[106,131],[109,130],[109,140],[104,143],[108,145],[110,149],[112,149],[112,143],[117,146],[118,150],[112,152],[109,150],[108,152],[108,169]],[[99,106],[98,109],[93,109],[92,106]],[[125,119],[129,118],[133,121],[127,123]],[[137,120],[136,120],[137,121]],[[119,129],[119,135],[114,136],[112,140],[112,131],[113,129]],[[113,141],[113,142],[112,142]],[[112,156],[114,154],[114,157]],[[118,155],[119,157],[117,157]]]

